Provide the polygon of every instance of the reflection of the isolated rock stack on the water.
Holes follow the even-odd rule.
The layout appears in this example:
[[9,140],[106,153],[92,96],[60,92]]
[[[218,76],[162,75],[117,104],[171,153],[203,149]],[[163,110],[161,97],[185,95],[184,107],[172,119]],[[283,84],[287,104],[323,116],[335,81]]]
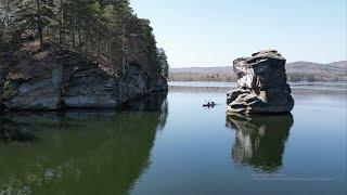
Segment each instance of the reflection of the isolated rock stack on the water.
[[284,144],[293,122],[291,114],[227,116],[227,126],[236,131],[233,160],[266,171],[277,170],[282,166]]

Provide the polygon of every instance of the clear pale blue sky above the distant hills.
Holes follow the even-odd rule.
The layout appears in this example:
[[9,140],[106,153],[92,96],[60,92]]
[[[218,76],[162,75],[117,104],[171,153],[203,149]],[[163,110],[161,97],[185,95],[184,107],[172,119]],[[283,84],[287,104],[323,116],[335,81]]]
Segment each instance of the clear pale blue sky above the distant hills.
[[347,0],[130,0],[171,67],[228,66],[264,49],[288,62],[347,60]]

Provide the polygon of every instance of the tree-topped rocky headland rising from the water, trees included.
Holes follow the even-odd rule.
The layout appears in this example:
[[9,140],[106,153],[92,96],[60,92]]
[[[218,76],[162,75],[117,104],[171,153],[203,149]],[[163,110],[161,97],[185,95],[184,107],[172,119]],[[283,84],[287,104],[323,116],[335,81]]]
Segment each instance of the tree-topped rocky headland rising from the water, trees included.
[[164,50],[128,1],[36,2],[8,4],[11,17],[0,31],[2,110],[119,108],[167,91]]

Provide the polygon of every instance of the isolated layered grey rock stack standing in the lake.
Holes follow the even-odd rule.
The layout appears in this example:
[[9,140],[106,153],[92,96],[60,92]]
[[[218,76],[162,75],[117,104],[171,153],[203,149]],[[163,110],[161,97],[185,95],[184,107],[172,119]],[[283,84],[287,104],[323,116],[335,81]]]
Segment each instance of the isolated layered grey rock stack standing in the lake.
[[286,60],[275,50],[233,62],[239,88],[227,93],[230,113],[286,113],[294,107],[286,83]]

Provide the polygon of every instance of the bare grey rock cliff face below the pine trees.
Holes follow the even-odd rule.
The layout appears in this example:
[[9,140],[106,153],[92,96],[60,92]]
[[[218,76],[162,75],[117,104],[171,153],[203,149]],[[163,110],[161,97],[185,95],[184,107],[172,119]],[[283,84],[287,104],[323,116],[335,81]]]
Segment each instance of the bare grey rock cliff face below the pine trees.
[[18,56],[12,57],[15,62],[0,63],[3,109],[118,108],[168,89],[160,73],[145,69],[154,64],[128,63],[119,74],[116,68],[120,65],[86,61],[68,50],[57,53],[53,46],[41,51],[36,44],[24,44],[16,51]]

